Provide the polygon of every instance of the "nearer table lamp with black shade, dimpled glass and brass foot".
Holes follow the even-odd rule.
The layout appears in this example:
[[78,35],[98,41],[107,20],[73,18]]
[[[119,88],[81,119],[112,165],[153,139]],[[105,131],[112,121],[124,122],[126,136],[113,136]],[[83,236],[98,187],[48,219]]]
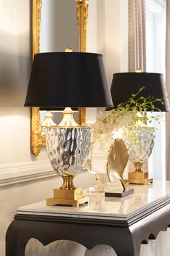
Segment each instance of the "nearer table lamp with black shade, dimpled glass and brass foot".
[[70,107],[113,107],[101,54],[51,52],[35,54],[25,106],[66,107],[61,123],[46,128],[46,148],[51,165],[63,178],[47,205],[88,202],[73,178],[88,156],[90,128],[75,123]]

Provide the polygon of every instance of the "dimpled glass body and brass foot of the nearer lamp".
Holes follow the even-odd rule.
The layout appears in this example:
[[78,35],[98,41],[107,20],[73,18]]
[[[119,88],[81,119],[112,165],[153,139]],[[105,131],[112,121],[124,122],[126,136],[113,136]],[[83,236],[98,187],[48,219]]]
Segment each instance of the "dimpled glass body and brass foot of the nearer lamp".
[[88,202],[82,197],[82,189],[76,189],[73,178],[82,171],[90,147],[90,128],[46,128],[46,147],[51,165],[63,178],[60,189],[54,189],[54,197],[47,205],[79,205]]

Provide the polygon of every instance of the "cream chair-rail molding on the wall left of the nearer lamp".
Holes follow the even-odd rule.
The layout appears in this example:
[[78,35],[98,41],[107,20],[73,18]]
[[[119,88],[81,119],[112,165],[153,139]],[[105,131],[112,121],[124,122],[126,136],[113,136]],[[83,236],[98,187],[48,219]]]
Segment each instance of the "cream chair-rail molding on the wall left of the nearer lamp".
[[0,165],[0,187],[53,176],[56,172],[49,160]]

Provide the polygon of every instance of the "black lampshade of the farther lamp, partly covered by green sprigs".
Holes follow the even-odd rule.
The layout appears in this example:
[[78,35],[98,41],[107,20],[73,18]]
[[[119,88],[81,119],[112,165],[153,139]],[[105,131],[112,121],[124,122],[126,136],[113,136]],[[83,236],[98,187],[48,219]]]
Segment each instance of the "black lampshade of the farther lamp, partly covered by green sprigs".
[[[145,87],[138,95],[153,96],[162,99],[155,102],[154,106],[161,111],[169,111],[169,99],[167,99],[166,86],[163,75],[158,73],[116,73],[111,84],[111,96],[116,108],[120,103],[127,102],[132,94],[137,94],[141,87]],[[108,110],[108,109],[107,109]],[[148,109],[148,111],[150,111]]]

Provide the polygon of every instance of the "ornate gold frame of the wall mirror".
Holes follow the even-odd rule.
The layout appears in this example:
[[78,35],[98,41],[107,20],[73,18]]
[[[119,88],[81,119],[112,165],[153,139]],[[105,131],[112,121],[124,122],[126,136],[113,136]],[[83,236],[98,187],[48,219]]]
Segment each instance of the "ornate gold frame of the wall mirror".
[[[41,30],[41,6],[42,0],[32,0],[33,7],[33,57],[40,51],[40,30]],[[77,0],[77,24],[79,30],[79,49],[86,51],[87,24],[88,24],[88,0]],[[79,108],[79,123],[86,121],[85,108]],[[46,136],[41,136],[40,108],[32,107],[31,110],[31,152],[38,156],[41,146],[46,145]]]

